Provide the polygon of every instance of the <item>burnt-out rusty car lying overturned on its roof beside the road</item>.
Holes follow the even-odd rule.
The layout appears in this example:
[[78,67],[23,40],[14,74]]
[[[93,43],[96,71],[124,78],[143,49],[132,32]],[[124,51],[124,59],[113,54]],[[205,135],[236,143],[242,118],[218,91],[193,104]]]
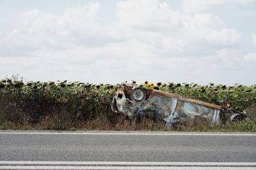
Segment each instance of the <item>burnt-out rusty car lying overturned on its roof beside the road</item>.
[[166,126],[195,120],[204,120],[216,125],[221,122],[239,121],[246,115],[239,111],[224,108],[216,104],[178,96],[155,89],[135,87],[123,83],[116,88],[111,108],[132,119],[133,117],[154,117],[166,122]]

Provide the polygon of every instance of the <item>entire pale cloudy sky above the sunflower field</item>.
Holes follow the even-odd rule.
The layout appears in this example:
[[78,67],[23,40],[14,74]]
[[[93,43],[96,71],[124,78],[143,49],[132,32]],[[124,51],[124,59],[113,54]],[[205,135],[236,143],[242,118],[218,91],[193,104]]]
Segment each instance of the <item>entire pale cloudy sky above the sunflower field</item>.
[[0,0],[0,79],[256,83],[256,0]]

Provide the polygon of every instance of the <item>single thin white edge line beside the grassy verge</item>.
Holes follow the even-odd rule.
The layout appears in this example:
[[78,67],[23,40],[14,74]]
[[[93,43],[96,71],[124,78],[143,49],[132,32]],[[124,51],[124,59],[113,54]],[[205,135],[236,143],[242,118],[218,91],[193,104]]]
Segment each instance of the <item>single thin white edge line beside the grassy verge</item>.
[[137,135],[137,136],[256,136],[256,133],[205,133],[205,132],[171,132],[171,133],[137,133],[137,132],[0,132],[1,134],[60,134],[60,135]]

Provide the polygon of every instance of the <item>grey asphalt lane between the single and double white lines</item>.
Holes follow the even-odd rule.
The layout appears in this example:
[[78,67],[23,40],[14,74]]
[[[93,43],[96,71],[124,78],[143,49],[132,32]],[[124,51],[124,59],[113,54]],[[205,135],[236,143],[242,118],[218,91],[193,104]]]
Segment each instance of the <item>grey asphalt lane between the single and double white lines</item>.
[[256,162],[256,134],[0,132],[0,160]]

